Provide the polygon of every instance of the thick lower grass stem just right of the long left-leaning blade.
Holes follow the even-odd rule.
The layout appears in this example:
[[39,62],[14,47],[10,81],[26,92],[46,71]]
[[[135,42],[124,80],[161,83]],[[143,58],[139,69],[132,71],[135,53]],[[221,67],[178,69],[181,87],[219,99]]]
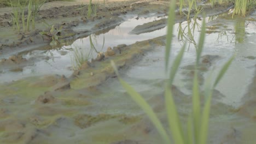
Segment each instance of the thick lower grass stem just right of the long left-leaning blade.
[[173,140],[175,143],[182,144],[184,143],[183,131],[181,128],[181,123],[179,121],[176,105],[172,97],[170,85],[166,85],[165,87],[165,106]]

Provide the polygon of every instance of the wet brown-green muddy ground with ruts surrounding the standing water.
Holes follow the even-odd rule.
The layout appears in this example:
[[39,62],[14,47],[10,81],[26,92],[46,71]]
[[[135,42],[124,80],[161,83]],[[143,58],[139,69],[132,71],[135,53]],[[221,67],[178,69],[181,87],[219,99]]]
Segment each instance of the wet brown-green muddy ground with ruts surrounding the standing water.
[[[1,14],[0,74],[5,70],[22,71],[24,67],[35,61],[47,59],[47,57],[26,59],[21,57],[20,53],[37,49],[57,49],[56,47],[69,45],[75,39],[88,37],[92,33],[107,33],[125,21],[129,15],[137,15],[136,19],[139,19],[150,15],[166,16],[168,11],[168,1],[106,2],[106,4],[98,3],[96,15],[90,18],[86,16],[88,5],[48,7],[47,5],[50,5],[48,3],[39,11],[36,29],[31,32],[16,32],[12,27],[11,14]],[[228,11],[233,5],[203,7],[210,15]],[[165,18],[136,26],[130,33],[141,34],[161,29],[166,26]],[[183,16],[177,14],[177,23],[184,20]],[[43,23],[48,23],[49,27]],[[53,40],[53,34],[50,32],[52,26],[54,31],[58,31],[60,27],[62,29],[56,33],[59,37],[55,41],[57,45],[48,46]],[[216,23],[209,23],[208,29],[211,30],[214,26],[217,27]],[[80,27],[85,28],[81,30]],[[220,31],[220,27],[222,26],[216,29]],[[42,35],[40,32],[45,34]],[[126,81],[137,86],[137,90],[144,95],[143,97],[167,127],[165,107],[162,105],[165,103],[162,88],[165,79],[152,79],[152,77],[142,79],[143,75],[139,76],[139,72],[133,77],[129,76],[129,70],[140,65],[140,61],[147,62],[141,64],[141,67],[161,62],[162,57],[150,57],[148,53],[162,53],[165,41],[165,36],[161,36],[134,41],[130,45],[107,46],[106,51],[97,52],[97,56],[92,61],[83,63],[70,76],[61,74],[33,76],[1,83],[0,142],[161,143],[158,132],[147,116],[121,88],[110,61],[115,62],[120,75],[125,77]],[[63,55],[66,55],[65,52]],[[199,67],[201,86],[207,71],[223,59],[219,55],[202,56]],[[178,103],[182,122],[187,121],[191,107],[191,94],[186,92],[191,91],[194,71],[193,64],[183,65],[180,75],[185,85],[183,88],[170,87]],[[136,77],[139,78],[135,79]],[[148,85],[146,88],[143,87],[145,83]],[[224,104],[222,99],[225,95],[214,89],[209,143],[241,143],[247,139],[249,142],[255,142],[250,134],[256,126],[254,87],[255,77],[249,85],[243,104],[238,108]],[[187,91],[184,92],[184,89]],[[201,100],[205,100],[203,93],[201,95]],[[242,120],[238,121],[237,119],[240,118]]]

